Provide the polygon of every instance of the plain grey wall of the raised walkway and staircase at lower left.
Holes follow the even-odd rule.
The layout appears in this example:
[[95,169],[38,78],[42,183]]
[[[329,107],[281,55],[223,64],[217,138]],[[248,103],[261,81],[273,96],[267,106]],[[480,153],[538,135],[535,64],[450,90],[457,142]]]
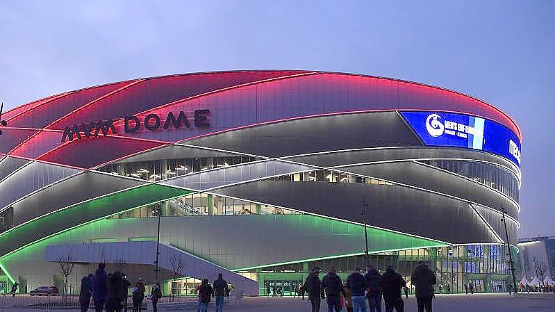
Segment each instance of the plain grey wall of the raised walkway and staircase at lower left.
[[[119,263],[153,265],[156,259],[156,242],[117,242],[117,243],[97,243],[80,245],[50,245],[44,250],[44,258],[47,261],[59,261],[60,255],[71,254],[78,263],[101,263],[105,261],[103,254],[118,255]],[[160,268],[172,271],[172,259],[181,258],[185,267],[183,274],[195,279],[208,278],[210,281],[217,279],[218,274],[233,285],[235,291],[245,293],[245,295],[258,295],[258,283],[247,277],[231,272],[226,268],[210,263],[202,258],[193,256],[188,252],[169,247],[159,246],[158,263]],[[115,263],[116,259],[108,260],[108,263]]]

